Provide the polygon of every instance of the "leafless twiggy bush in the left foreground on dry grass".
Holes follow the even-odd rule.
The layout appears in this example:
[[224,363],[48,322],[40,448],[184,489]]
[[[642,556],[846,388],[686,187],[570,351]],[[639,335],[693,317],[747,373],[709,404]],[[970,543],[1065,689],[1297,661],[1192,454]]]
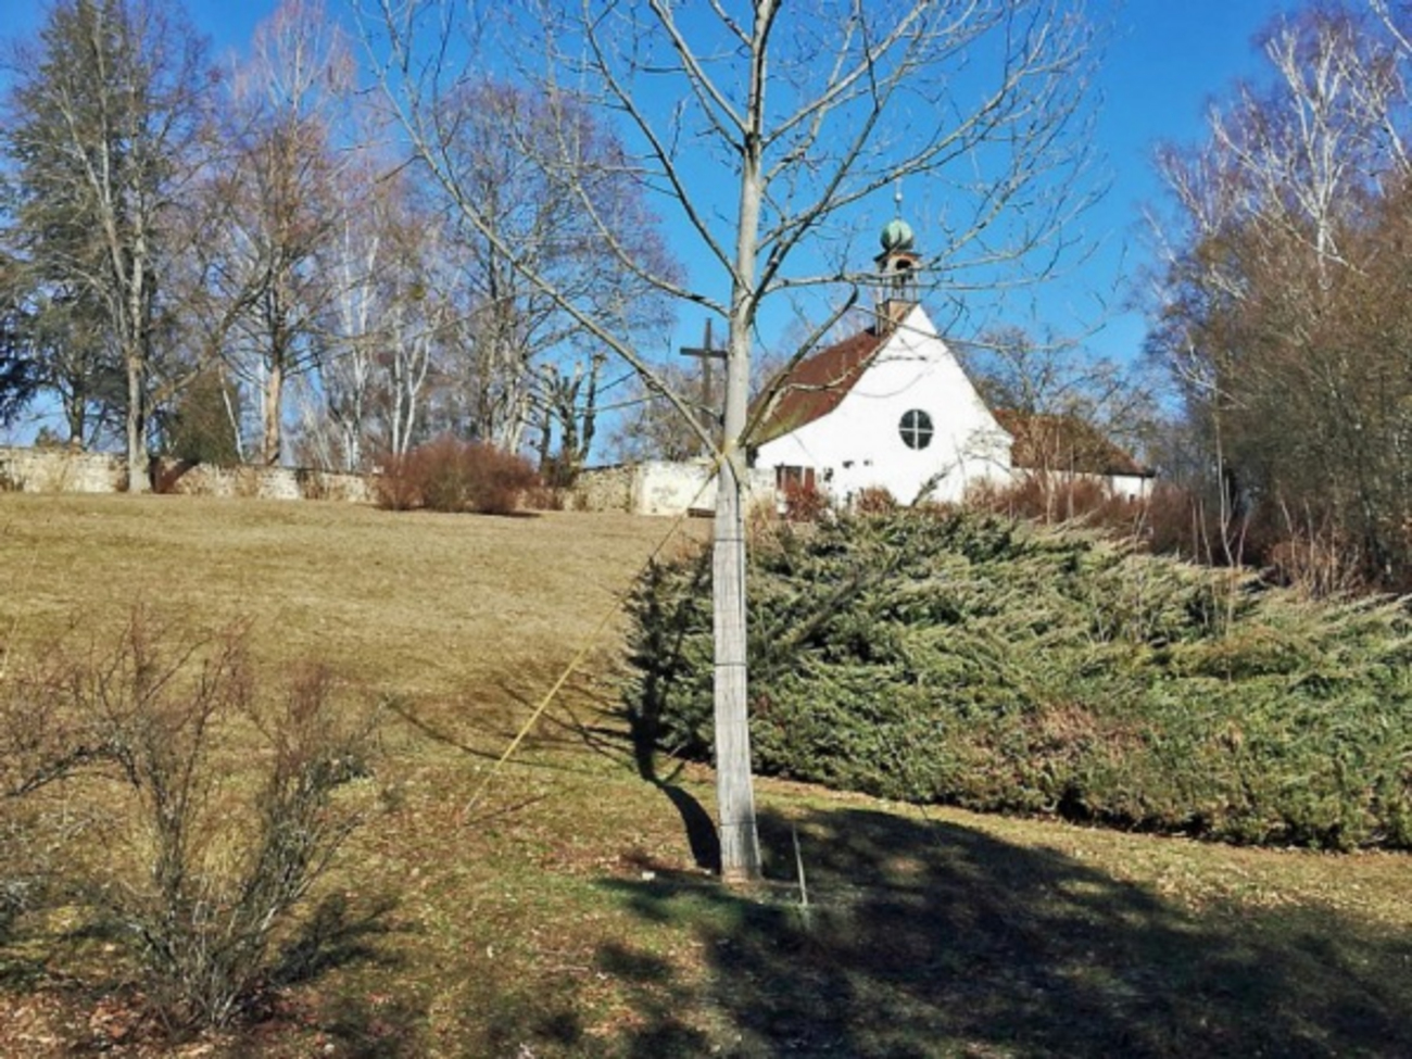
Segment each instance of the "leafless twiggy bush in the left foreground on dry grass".
[[230,1022],[357,823],[335,792],[369,770],[374,712],[335,709],[316,666],[267,699],[243,628],[192,640],[144,611],[41,676],[0,689],[6,720],[28,710],[0,743],[7,801],[78,779],[102,856],[65,861],[68,888],[130,946],[168,1025]]

